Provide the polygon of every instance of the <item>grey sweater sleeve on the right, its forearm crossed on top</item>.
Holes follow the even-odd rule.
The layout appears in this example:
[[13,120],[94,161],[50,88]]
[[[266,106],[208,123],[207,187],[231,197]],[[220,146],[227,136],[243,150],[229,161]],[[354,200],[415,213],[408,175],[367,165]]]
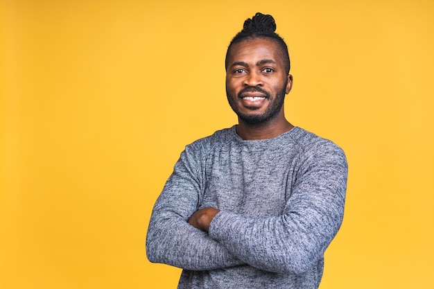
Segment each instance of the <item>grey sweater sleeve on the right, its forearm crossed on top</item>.
[[306,272],[323,256],[340,228],[347,160],[333,143],[304,152],[281,216],[245,218],[220,211],[209,236],[234,256],[270,272]]

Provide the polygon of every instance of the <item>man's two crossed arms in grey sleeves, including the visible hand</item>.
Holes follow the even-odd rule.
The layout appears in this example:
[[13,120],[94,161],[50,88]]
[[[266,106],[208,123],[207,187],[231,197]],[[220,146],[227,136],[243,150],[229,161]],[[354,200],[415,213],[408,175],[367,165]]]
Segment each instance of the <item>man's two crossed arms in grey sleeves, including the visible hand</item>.
[[[300,274],[324,254],[342,222],[347,181],[345,155],[306,168],[281,216],[245,218],[199,209],[200,172],[181,157],[155,204],[147,236],[148,259],[186,270],[248,263],[270,272]],[[312,188],[316,188],[312,191]]]

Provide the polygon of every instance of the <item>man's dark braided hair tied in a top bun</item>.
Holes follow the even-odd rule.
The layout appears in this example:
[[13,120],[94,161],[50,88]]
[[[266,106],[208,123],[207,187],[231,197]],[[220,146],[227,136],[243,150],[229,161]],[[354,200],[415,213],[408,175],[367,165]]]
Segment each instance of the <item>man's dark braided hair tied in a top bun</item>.
[[290,60],[288,53],[288,46],[279,36],[279,34],[275,33],[276,30],[276,22],[275,19],[271,15],[263,15],[260,12],[257,12],[252,19],[246,19],[244,21],[243,30],[238,32],[235,37],[232,39],[229,47],[227,48],[226,58],[225,58],[225,68],[227,69],[227,56],[229,55],[229,50],[231,49],[233,44],[238,42],[242,42],[243,40],[252,40],[254,38],[270,38],[279,44],[281,48],[281,54],[284,58],[286,73],[289,73],[290,70]]

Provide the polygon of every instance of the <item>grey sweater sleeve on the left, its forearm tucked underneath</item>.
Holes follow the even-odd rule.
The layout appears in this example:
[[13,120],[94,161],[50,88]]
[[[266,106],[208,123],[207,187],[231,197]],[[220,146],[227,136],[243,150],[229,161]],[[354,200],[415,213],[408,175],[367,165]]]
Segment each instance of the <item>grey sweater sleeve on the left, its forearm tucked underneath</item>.
[[146,254],[153,263],[186,270],[213,270],[243,263],[187,222],[200,204],[202,151],[198,143],[186,147],[155,202],[146,236]]

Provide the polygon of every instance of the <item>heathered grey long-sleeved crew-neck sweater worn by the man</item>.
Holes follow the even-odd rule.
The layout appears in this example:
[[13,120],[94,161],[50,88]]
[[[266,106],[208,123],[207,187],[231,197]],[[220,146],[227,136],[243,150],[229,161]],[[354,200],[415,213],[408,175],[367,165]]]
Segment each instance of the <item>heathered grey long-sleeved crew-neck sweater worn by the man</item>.
[[[302,128],[245,141],[235,127],[186,146],[148,227],[151,262],[184,269],[178,288],[318,288],[342,222],[344,152]],[[220,213],[209,234],[189,225]]]

